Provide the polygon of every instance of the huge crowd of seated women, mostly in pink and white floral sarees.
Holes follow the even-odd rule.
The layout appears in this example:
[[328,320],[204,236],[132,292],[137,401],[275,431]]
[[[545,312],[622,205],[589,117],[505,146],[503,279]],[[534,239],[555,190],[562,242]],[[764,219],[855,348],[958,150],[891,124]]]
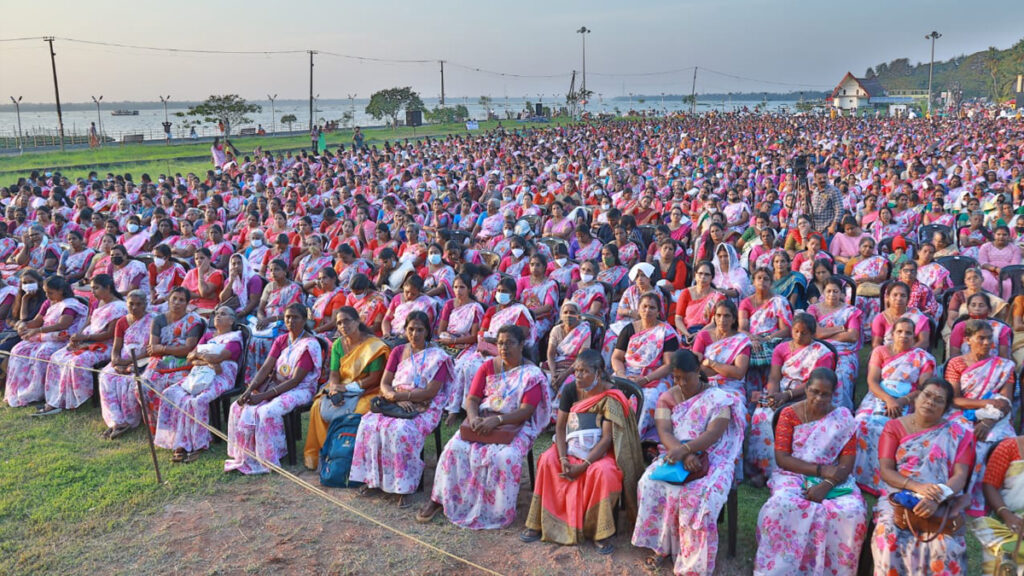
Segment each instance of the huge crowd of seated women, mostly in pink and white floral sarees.
[[[968,531],[994,573],[1024,528],[1024,135],[924,155],[834,120],[851,155],[804,120],[706,120],[22,178],[4,400],[96,398],[103,439],[145,422],[180,463],[229,403],[224,470],[248,475],[288,454],[290,415],[316,469],[357,414],[359,495],[469,529],[516,522],[550,429],[524,542],[610,553],[624,531],[651,569],[712,574],[743,482],[770,490],[757,574],[854,574],[862,547],[877,574],[965,573]],[[805,130],[824,139],[783,137]]]

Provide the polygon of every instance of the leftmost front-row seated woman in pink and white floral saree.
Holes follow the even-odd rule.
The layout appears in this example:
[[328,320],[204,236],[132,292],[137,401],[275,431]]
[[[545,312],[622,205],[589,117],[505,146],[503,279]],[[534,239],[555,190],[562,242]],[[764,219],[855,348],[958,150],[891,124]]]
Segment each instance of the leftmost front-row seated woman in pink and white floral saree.
[[[26,284],[22,284],[23,290]],[[77,334],[88,321],[89,307],[75,298],[65,279],[51,276],[42,283],[46,301],[35,318],[17,326],[20,341],[11,348],[7,361],[7,388],[4,400],[13,407],[44,398],[46,361]]]

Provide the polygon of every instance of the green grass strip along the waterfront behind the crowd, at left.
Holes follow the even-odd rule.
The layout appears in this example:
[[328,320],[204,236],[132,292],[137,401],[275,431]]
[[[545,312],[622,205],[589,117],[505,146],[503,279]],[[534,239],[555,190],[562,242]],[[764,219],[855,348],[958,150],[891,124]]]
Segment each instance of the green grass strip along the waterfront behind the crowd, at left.
[[[503,121],[508,129],[523,127],[557,126],[567,120],[554,120],[550,123],[519,123]],[[490,130],[498,126],[498,121],[480,122],[480,131]],[[388,128],[372,128],[364,130],[366,143],[383,143],[385,140],[420,138],[423,136],[439,136],[447,134],[466,134],[464,124],[438,124],[421,126],[419,128],[400,127],[395,130]],[[285,152],[296,151],[309,147],[307,136],[236,136],[231,141],[243,154],[251,154],[256,147],[264,151]],[[352,131],[345,129],[327,135],[328,147],[340,143],[351,145]],[[108,143],[104,148],[88,150],[72,150],[61,152],[28,153],[23,156],[0,157],[0,176],[22,176],[32,170],[59,170],[70,178],[85,176],[90,170],[101,174],[108,171],[121,173],[130,172],[137,176],[143,172],[151,174],[203,171],[212,167],[210,163],[210,142],[175,143],[161,146],[158,143]]]

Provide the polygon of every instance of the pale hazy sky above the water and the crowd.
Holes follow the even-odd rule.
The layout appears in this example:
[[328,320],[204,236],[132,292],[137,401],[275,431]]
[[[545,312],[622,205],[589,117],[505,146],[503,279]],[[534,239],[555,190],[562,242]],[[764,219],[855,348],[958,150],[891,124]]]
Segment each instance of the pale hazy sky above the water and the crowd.
[[[0,0],[0,40],[57,37],[63,102],[99,94],[104,101],[214,93],[305,98],[308,49],[429,60],[316,54],[313,92],[324,99],[365,98],[406,85],[436,97],[439,59],[447,61],[449,97],[552,98],[568,90],[571,72],[582,68],[581,26],[592,31],[588,88],[605,98],[689,93],[694,66],[698,93],[829,90],[848,71],[861,76],[898,57],[928,61],[925,35],[932,30],[943,35],[936,59],[1007,48],[1024,37],[1021,0]],[[298,53],[171,53],[65,39]],[[0,42],[0,97],[8,95],[53,101],[42,40]]]

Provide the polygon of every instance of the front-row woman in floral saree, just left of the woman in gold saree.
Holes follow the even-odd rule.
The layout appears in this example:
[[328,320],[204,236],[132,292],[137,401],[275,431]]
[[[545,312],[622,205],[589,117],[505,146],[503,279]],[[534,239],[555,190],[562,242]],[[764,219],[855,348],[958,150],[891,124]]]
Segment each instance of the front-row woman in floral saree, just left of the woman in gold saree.
[[305,330],[305,306],[289,304],[283,322],[285,333],[274,338],[259,372],[231,404],[224,471],[268,472],[249,454],[278,464],[286,452],[285,414],[309,403],[316,390],[324,353],[316,338]]

